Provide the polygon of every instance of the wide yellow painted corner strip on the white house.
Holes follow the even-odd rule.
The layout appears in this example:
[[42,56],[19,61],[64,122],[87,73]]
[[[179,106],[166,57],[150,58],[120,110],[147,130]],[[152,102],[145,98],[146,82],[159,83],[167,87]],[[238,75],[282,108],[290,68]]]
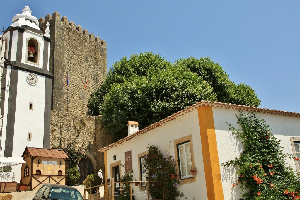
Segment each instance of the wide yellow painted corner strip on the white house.
[[207,198],[209,200],[224,199],[212,107],[200,106],[197,110]]

